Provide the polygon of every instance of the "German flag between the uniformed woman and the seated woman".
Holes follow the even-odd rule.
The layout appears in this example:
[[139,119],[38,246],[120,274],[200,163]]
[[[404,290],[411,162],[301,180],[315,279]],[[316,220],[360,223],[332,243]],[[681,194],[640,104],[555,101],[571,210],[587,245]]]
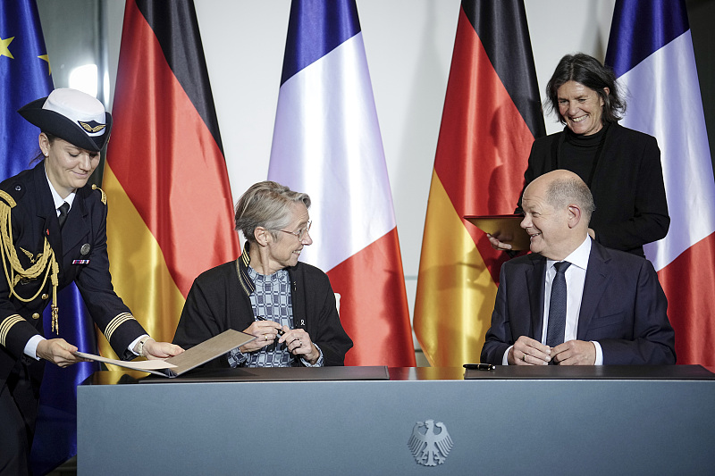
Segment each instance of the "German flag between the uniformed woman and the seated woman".
[[240,253],[193,2],[127,1],[113,115],[103,187],[114,287],[171,341],[193,280]]

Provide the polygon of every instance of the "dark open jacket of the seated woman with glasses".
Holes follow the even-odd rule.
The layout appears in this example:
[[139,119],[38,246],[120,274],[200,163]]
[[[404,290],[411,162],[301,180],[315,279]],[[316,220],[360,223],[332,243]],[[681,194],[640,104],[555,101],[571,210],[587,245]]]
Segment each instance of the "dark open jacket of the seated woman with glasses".
[[[244,252],[247,253],[247,252]],[[288,268],[293,322],[323,351],[324,365],[343,365],[352,340],[342,329],[328,276],[315,266]],[[224,330],[246,330],[254,322],[250,297],[239,281],[238,262],[201,273],[191,286],[173,343],[185,349]],[[210,366],[228,366],[225,356]]]

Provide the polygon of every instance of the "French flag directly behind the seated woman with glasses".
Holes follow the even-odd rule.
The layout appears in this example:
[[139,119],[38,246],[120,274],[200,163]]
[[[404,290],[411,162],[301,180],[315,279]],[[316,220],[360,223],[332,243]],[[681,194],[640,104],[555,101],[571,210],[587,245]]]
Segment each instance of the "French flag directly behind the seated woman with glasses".
[[383,139],[354,0],[294,0],[268,179],[312,199],[301,259],[330,277],[349,365],[415,365]]

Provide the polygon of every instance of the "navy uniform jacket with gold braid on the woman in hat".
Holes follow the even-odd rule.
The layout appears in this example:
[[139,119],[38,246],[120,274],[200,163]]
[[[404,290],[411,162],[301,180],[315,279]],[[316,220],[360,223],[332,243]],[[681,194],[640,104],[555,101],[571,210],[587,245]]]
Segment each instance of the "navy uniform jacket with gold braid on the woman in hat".
[[[92,190],[90,186],[77,190],[62,233],[43,162],[29,171],[22,171],[4,180],[0,190],[15,202],[11,210],[13,246],[22,267],[28,269],[33,261],[37,262],[47,238],[59,265],[59,288],[75,281],[99,329],[104,333],[107,326],[113,323],[109,343],[117,355],[134,358],[136,355],[131,354],[127,347],[146,332],[131,317],[129,308],[122,303],[112,287],[106,253],[107,209],[101,200],[101,190]],[[0,226],[5,226],[5,223]],[[87,252],[85,254],[82,253],[83,246]],[[6,256],[4,260],[5,265],[9,266]],[[88,260],[89,263],[73,264],[74,260]],[[22,280],[15,287],[23,298],[37,294],[35,299],[25,303],[9,295],[4,271],[0,271],[0,337],[4,337],[0,342],[0,388],[14,364],[22,358],[29,338],[43,333],[42,312],[52,302],[50,278],[42,286],[44,277],[45,273],[42,272],[38,278]],[[70,336],[62,333],[63,319],[69,317],[68,311],[60,309],[59,337],[67,338],[74,344]],[[21,317],[21,321],[17,320],[17,316]]]

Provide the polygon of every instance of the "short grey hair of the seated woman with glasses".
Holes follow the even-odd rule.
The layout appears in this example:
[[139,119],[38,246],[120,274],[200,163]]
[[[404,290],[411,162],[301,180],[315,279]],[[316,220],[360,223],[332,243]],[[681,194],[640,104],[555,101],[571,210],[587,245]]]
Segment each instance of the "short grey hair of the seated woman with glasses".
[[290,225],[290,205],[299,203],[310,208],[310,197],[270,180],[253,184],[236,203],[236,230],[251,243],[256,242],[257,227],[278,239],[277,231]]

